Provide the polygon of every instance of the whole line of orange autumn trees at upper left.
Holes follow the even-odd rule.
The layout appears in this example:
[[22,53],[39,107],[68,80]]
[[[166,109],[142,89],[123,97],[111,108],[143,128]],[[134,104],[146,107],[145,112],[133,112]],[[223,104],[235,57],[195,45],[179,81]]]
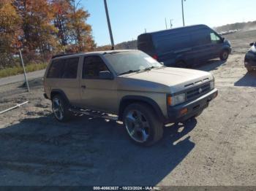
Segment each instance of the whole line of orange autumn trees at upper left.
[[75,0],[0,0],[0,59],[18,49],[28,61],[94,50],[89,16]]

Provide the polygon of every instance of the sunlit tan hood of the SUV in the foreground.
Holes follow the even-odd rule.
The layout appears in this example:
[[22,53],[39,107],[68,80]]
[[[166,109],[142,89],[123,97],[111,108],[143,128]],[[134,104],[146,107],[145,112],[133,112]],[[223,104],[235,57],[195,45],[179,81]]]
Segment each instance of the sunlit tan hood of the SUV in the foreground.
[[120,89],[177,93],[209,82],[214,77],[206,71],[165,67],[126,74],[118,79]]

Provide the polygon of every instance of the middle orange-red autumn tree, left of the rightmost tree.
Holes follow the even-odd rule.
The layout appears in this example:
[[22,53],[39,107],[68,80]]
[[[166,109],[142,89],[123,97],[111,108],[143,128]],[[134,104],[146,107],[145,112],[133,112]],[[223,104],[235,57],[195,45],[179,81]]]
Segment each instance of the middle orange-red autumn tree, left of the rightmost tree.
[[56,28],[53,26],[53,9],[47,0],[14,0],[20,15],[25,50],[50,52],[56,47]]

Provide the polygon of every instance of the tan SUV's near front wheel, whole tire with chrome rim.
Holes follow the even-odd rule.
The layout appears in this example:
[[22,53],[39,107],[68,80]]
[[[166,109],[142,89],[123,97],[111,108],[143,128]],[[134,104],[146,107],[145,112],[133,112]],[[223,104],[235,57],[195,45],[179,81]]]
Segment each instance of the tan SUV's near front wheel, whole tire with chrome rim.
[[129,138],[138,145],[151,146],[162,139],[163,122],[147,104],[135,103],[127,106],[123,122]]

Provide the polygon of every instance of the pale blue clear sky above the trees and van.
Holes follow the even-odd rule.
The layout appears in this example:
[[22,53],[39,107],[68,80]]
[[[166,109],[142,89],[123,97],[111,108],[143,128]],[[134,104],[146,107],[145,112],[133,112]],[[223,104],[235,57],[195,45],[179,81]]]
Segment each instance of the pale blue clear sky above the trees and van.
[[[147,32],[164,30],[165,18],[170,28],[183,26],[181,0],[107,0],[115,44],[137,39]],[[82,0],[87,20],[98,46],[110,44],[103,0]],[[186,0],[185,25],[206,24],[210,27],[256,20],[255,0]]]

